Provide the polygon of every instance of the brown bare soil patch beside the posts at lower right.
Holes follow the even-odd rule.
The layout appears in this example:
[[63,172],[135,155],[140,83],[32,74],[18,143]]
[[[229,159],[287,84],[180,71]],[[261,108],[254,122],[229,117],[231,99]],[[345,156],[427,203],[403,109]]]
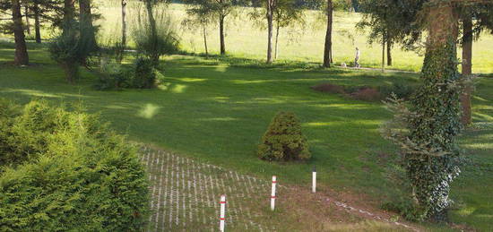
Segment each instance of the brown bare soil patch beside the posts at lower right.
[[288,186],[281,195],[289,202],[288,211],[303,231],[422,231],[409,222],[396,221],[397,215],[376,209],[362,195],[336,193],[324,189],[311,193],[307,188]]

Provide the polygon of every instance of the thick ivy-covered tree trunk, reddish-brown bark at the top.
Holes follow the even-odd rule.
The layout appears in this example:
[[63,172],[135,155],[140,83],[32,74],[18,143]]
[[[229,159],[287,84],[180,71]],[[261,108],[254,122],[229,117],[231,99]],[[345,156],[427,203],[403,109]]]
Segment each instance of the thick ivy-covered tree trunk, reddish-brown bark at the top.
[[459,175],[456,136],[461,131],[460,79],[457,72],[457,15],[448,1],[428,5],[427,51],[422,86],[411,99],[412,148],[405,151],[406,169],[422,216],[445,220],[450,184]]

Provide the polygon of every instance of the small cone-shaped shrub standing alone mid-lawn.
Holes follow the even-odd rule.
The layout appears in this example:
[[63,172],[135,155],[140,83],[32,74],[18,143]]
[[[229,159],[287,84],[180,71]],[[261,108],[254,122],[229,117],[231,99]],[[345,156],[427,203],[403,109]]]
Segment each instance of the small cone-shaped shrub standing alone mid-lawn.
[[280,112],[262,137],[257,154],[260,159],[289,161],[310,159],[307,138],[293,113]]

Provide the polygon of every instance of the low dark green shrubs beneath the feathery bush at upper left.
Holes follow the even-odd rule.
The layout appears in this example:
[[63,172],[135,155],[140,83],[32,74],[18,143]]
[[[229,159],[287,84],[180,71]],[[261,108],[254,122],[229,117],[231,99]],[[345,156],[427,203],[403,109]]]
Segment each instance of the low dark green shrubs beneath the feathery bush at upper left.
[[151,89],[164,81],[164,75],[147,58],[137,58],[134,64],[101,64],[98,90]]

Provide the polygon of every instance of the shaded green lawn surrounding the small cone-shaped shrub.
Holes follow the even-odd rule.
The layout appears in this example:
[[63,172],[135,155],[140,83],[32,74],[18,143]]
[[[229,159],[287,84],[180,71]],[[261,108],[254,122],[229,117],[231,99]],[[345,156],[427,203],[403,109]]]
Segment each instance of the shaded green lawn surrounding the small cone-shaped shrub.
[[[347,99],[309,87],[322,82],[379,86],[417,84],[412,73],[232,67],[194,56],[172,56],[164,65],[169,82],[157,90],[97,91],[96,77],[85,71],[76,85],[42,47],[30,47],[33,65],[0,66],[0,97],[21,103],[32,98],[54,103],[82,103],[111,126],[138,142],[157,145],[197,160],[281,184],[310,185],[318,169],[319,189],[356,193],[378,207],[402,196],[395,181],[395,147],[383,140],[379,126],[391,118],[378,102]],[[0,48],[0,63],[13,60],[13,48]],[[493,227],[493,88],[483,79],[474,96],[474,128],[463,136],[471,159],[454,182],[456,223],[488,231]],[[267,125],[278,111],[292,111],[302,121],[313,159],[278,164],[256,158]]]

